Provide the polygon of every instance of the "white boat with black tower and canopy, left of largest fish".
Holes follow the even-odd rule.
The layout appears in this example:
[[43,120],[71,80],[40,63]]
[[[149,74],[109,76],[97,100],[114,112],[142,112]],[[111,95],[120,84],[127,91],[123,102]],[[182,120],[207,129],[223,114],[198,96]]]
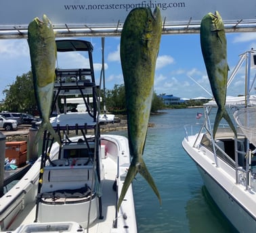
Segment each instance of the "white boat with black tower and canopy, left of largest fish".
[[[62,98],[64,108],[51,124],[62,145],[45,131],[41,156],[0,199],[1,232],[137,232],[132,186],[116,208],[129,145],[124,136],[100,134],[100,122],[113,116],[98,111],[93,47],[73,39],[56,44],[58,51],[87,52],[89,68],[56,70],[54,103]],[[87,111],[69,113],[70,95],[82,97]]]

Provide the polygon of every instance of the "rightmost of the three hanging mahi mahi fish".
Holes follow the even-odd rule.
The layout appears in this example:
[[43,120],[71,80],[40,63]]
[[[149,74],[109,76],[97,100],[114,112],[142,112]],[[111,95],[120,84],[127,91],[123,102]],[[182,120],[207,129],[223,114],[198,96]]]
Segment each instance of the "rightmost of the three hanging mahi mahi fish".
[[211,90],[218,107],[213,126],[213,137],[215,138],[217,127],[222,118],[228,122],[236,135],[236,128],[225,108],[229,68],[226,34],[218,11],[215,11],[215,14],[209,13],[202,18],[200,44]]

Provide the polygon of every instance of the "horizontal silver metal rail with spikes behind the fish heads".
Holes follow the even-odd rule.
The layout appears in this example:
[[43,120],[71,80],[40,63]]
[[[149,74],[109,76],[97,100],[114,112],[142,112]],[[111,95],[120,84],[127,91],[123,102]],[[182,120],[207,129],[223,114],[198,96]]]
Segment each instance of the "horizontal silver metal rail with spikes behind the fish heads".
[[[256,20],[230,20],[223,21],[226,32],[256,32]],[[27,38],[28,25],[12,26],[0,25],[0,39]],[[56,24],[54,31],[56,37],[68,36],[120,36],[123,23],[118,20],[116,24],[99,26],[98,24]],[[188,22],[167,22],[163,20],[162,34],[198,34],[200,21],[188,18]]]

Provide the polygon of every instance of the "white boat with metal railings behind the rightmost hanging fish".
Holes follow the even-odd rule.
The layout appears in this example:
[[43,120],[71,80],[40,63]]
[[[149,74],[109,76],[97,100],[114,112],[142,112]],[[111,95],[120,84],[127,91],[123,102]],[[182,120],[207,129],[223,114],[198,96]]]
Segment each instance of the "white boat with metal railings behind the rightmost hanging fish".
[[226,99],[226,107],[236,122],[237,138],[228,126],[220,125],[213,139],[211,120],[216,112],[213,117],[211,112],[217,106],[210,101],[204,105],[205,121],[197,126],[197,133],[192,132],[192,126],[186,126],[182,146],[196,163],[209,194],[238,232],[256,232],[256,96],[250,95],[256,79],[256,75],[251,78],[256,67],[255,50],[240,55],[228,85],[243,61],[247,61],[245,95]]

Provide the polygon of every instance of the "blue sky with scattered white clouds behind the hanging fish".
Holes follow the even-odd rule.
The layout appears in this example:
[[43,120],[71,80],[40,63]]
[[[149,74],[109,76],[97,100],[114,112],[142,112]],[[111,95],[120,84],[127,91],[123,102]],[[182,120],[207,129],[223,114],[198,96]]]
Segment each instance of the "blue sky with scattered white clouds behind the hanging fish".
[[[227,33],[226,38],[230,76],[240,59],[239,55],[252,48],[256,49],[256,32]],[[93,45],[93,67],[96,84],[99,84],[102,40],[99,37],[83,39],[90,41]],[[119,55],[120,37],[106,37],[104,45],[106,89],[111,90],[114,84],[123,84]],[[70,63],[83,68],[87,59],[83,57],[83,54],[68,54],[66,57],[59,55],[58,62],[62,62],[62,68],[68,68],[65,66],[69,66]],[[16,76],[21,76],[30,70],[26,39],[0,40],[0,70],[1,101],[5,98],[3,90],[15,82]],[[228,88],[228,95],[244,95],[244,74],[244,69],[241,68]],[[251,78],[254,76],[255,69],[252,69]],[[199,34],[168,34],[161,37],[154,76],[154,90],[158,95],[174,95],[186,99],[211,97],[211,88],[200,49]]]

